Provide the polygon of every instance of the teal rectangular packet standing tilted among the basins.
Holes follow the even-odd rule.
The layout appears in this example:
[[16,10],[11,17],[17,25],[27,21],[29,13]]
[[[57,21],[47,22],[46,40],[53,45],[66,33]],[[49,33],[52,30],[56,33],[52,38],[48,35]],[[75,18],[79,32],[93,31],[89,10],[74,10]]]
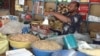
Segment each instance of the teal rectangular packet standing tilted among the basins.
[[73,34],[68,34],[63,38],[64,46],[67,49],[77,49],[78,44]]

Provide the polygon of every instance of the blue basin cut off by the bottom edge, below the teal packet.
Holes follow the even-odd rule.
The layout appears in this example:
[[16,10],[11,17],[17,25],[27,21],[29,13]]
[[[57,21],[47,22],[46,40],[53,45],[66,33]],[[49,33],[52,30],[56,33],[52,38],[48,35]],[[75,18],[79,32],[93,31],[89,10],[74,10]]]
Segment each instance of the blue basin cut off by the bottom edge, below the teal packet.
[[[60,51],[57,51],[57,52],[52,53],[51,56],[70,56],[70,54],[71,54],[71,51],[70,50],[60,50]],[[74,55],[71,55],[71,56],[88,56],[88,55],[85,54],[85,53],[76,51],[74,53]]]

